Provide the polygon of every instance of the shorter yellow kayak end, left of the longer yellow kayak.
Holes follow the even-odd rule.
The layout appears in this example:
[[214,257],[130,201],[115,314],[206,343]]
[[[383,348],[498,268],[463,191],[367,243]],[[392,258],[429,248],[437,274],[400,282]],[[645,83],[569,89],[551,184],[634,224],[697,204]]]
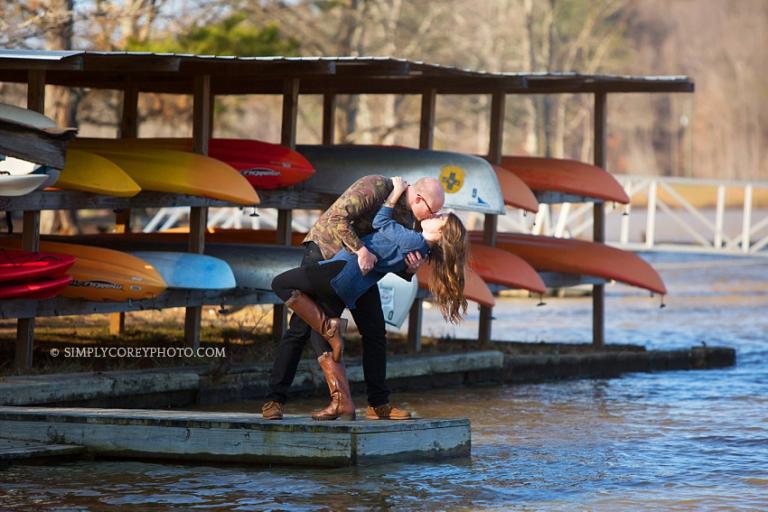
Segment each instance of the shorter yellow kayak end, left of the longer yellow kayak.
[[117,197],[132,197],[141,192],[138,183],[111,160],[76,149],[67,151],[56,187]]

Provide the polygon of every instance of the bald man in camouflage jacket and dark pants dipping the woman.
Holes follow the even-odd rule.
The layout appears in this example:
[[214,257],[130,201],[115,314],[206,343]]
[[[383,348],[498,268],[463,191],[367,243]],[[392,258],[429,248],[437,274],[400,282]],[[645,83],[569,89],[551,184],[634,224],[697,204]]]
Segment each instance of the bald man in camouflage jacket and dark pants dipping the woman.
[[[373,231],[373,217],[392,191],[392,181],[384,176],[364,176],[353,183],[328,210],[304,238],[304,258],[301,265],[311,265],[331,258],[342,248],[357,254],[357,263],[363,274],[376,263],[376,256],[360,240]],[[421,178],[409,186],[397,202],[393,218],[403,226],[414,228],[416,221],[434,215],[443,207],[445,193],[435,178]],[[410,280],[422,264],[418,253],[406,257],[408,270],[402,275]],[[357,301],[352,311],[363,340],[363,373],[368,395],[366,417],[369,419],[408,419],[410,413],[389,403],[387,373],[387,337],[384,314],[381,311],[379,289],[374,286]],[[270,394],[262,407],[266,419],[282,419],[288,388],[296,375],[309,336],[310,327],[298,315],[292,315],[287,332],[277,347],[272,365]]]

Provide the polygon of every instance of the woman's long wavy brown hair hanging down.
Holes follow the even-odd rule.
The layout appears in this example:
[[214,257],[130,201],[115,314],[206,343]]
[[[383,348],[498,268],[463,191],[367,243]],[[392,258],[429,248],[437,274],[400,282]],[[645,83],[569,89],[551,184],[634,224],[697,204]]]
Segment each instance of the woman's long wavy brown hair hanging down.
[[467,229],[455,214],[449,213],[440,241],[432,246],[432,278],[429,293],[443,318],[458,323],[467,312],[464,298],[464,267],[469,257]]

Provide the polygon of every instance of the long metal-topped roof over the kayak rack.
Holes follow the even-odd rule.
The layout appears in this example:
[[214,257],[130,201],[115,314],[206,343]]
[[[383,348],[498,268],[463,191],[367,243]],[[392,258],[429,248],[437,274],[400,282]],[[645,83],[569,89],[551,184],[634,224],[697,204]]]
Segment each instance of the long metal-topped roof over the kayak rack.
[[214,94],[274,93],[298,79],[299,92],[419,94],[692,92],[684,76],[490,73],[391,57],[236,57],[145,52],[0,50],[0,81],[26,82],[30,70],[48,84],[191,93],[210,75]]

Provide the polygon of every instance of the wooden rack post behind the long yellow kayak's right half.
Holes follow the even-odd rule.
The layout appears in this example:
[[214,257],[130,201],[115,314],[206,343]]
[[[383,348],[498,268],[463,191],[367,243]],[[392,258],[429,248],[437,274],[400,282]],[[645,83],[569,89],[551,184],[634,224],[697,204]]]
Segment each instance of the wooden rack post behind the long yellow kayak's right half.
[[[195,77],[194,105],[192,113],[192,150],[201,155],[208,154],[208,141],[211,137],[211,77]],[[205,228],[208,220],[208,208],[193,206],[189,212],[188,251],[202,254],[205,251]],[[184,339],[188,347],[200,347],[200,321],[203,308],[187,307],[184,316]]]

